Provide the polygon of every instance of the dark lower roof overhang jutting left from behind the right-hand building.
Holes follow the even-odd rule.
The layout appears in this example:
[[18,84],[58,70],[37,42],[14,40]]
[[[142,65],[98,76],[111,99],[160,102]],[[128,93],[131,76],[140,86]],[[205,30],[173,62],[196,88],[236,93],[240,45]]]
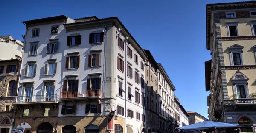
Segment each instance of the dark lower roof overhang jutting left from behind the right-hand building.
[[209,91],[211,88],[211,70],[212,70],[212,60],[204,62],[205,69],[205,91]]

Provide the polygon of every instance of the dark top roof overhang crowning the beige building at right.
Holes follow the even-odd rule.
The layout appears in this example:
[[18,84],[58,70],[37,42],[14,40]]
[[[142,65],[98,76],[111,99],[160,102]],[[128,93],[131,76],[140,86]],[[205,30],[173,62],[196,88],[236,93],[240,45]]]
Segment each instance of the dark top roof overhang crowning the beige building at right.
[[206,49],[210,50],[211,19],[213,10],[234,10],[234,9],[256,8],[256,1],[242,1],[232,3],[216,3],[206,5]]

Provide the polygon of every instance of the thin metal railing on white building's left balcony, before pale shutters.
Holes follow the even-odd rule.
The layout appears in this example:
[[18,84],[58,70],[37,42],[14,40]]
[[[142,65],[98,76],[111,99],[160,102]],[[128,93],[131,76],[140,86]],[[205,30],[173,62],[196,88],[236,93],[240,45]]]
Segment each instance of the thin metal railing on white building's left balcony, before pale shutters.
[[37,103],[37,102],[53,102],[58,101],[58,95],[33,95],[17,97],[17,103]]

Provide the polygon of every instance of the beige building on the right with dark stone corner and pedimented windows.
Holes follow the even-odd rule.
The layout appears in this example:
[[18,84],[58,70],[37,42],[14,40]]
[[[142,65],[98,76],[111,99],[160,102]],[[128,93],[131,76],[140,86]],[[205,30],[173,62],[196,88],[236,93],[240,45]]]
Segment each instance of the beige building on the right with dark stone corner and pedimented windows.
[[212,55],[205,62],[209,119],[256,125],[256,1],[206,7]]

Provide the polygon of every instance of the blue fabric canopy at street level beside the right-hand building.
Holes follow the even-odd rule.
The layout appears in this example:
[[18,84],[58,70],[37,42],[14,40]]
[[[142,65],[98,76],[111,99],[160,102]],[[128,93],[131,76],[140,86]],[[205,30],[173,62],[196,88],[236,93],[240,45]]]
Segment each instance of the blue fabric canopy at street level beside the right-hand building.
[[227,130],[227,129],[237,129],[237,128],[250,128],[250,125],[235,125],[230,123],[222,123],[222,122],[212,122],[212,121],[204,121],[195,123],[192,125],[187,125],[184,127],[177,127],[177,129],[181,133],[193,132],[193,131],[203,131],[203,132],[211,132],[214,130]]

